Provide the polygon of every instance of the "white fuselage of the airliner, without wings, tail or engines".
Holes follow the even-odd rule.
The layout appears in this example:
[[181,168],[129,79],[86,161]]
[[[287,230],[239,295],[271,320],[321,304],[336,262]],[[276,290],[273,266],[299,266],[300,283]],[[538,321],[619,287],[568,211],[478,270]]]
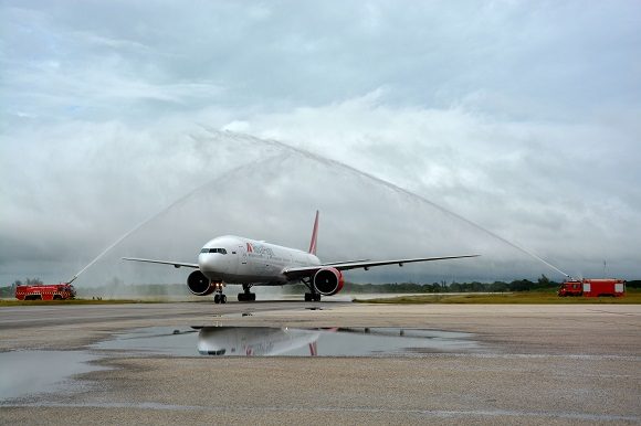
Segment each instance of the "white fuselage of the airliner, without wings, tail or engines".
[[233,235],[209,241],[198,255],[200,271],[213,283],[283,285],[285,268],[317,265],[311,253]]

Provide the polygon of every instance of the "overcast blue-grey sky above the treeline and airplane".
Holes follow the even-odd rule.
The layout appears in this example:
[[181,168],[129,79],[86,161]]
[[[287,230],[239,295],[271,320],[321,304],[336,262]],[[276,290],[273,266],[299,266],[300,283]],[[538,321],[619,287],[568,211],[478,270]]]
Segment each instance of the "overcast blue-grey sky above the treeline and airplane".
[[[224,173],[238,175],[225,185],[239,190],[200,198],[199,209],[224,220],[193,253],[228,227],[276,228],[272,216],[291,225],[327,200],[355,235],[403,214],[445,227],[434,209],[408,212],[391,199],[385,214],[364,210],[358,194],[388,195],[336,180],[341,164],[572,275],[602,275],[606,260],[608,275],[639,278],[640,28],[641,3],[628,0],[0,1],[0,279],[67,279]],[[335,162],[318,169],[302,151]],[[244,180],[262,192],[241,191]],[[221,215],[225,205],[272,215]],[[167,216],[151,234],[166,232],[168,217],[196,222]],[[469,243],[477,235],[448,232],[465,241],[460,248],[496,253]],[[134,235],[143,246],[144,235]],[[103,265],[114,276],[116,259]]]

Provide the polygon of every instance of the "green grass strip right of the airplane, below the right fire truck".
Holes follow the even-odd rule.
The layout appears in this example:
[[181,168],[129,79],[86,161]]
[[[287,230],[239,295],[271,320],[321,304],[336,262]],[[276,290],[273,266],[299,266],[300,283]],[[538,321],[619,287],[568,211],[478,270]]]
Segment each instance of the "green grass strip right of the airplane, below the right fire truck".
[[505,292],[465,295],[417,295],[359,300],[360,303],[476,303],[476,305],[639,305],[640,291],[627,291],[624,297],[558,297],[554,292]]

